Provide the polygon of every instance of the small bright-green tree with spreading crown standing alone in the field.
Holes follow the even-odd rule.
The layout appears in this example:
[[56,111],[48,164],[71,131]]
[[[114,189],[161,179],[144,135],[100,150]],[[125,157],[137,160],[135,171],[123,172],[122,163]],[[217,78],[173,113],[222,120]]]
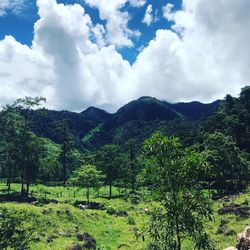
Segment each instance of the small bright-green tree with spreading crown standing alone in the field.
[[104,175],[94,165],[83,165],[75,171],[75,177],[71,182],[87,189],[86,197],[89,203],[90,188],[100,188]]

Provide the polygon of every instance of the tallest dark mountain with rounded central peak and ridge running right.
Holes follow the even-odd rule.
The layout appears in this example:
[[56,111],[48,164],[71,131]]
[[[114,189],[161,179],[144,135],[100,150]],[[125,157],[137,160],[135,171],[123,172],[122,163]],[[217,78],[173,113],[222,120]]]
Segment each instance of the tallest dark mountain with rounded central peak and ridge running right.
[[213,113],[219,104],[220,101],[170,104],[153,97],[141,97],[85,134],[82,143],[89,149],[107,143],[124,144],[132,138],[140,144],[155,131],[176,134],[188,143],[198,122]]

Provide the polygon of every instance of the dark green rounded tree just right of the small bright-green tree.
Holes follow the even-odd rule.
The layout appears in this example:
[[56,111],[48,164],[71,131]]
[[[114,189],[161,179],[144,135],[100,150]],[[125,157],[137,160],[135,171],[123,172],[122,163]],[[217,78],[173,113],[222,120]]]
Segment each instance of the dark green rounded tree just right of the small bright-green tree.
[[109,185],[109,198],[112,197],[114,181],[122,176],[125,156],[116,145],[107,144],[101,147],[95,155],[95,163],[106,175],[106,183]]

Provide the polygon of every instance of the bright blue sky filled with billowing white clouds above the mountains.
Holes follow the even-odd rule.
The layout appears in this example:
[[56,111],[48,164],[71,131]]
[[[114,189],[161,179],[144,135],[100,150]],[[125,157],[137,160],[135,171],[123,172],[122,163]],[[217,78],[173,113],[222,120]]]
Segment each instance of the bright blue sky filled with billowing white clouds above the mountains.
[[141,96],[237,96],[249,13],[249,0],[0,0],[0,104],[114,112]]

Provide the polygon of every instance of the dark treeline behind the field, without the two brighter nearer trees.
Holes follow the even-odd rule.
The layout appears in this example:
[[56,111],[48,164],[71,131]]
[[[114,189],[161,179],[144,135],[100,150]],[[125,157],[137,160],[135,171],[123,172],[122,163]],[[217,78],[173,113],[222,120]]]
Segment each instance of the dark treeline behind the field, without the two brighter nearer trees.
[[[67,120],[58,121],[54,128],[57,144],[31,132],[33,109],[44,101],[44,98],[26,97],[6,105],[0,113],[0,174],[1,178],[6,178],[8,191],[13,181],[22,183],[22,195],[28,195],[31,182],[65,186],[83,165],[95,166],[102,172],[103,184],[110,187],[110,197],[113,185],[132,191],[138,186],[152,185],[149,178],[144,178],[146,160],[143,145],[136,135],[123,144],[106,144],[89,151],[76,145]],[[200,176],[204,187],[217,190],[218,194],[234,193],[247,187],[250,87],[243,88],[239,98],[227,95],[219,109],[191,135],[186,129],[179,134],[186,134],[181,137],[182,143],[206,155],[211,165],[210,174]]]

